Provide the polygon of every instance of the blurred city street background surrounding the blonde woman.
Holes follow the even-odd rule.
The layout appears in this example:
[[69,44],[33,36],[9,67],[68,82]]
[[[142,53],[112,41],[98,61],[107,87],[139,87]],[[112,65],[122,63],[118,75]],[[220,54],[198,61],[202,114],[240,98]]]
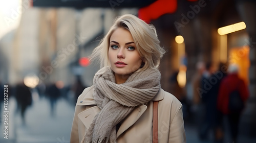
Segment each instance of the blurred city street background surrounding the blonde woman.
[[[183,105],[188,143],[256,142],[256,1],[8,0],[0,1],[0,143],[70,142],[76,100],[100,68],[90,55],[124,14],[156,28],[166,52],[161,88]],[[231,112],[233,93],[242,108]]]

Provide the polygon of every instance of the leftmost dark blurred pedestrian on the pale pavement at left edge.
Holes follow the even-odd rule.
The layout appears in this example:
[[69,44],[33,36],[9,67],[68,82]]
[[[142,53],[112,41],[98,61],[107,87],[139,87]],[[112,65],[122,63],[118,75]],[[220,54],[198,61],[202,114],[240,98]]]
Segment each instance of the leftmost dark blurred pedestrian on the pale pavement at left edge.
[[15,88],[15,97],[22,116],[23,125],[26,125],[26,110],[29,106],[32,105],[32,94],[30,88],[27,87],[24,82],[21,82],[16,85]]

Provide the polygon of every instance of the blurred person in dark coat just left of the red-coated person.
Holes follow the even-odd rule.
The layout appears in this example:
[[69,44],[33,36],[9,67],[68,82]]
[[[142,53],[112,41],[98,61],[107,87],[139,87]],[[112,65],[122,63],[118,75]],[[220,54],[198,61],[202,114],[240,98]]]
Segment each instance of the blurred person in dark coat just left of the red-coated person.
[[222,142],[223,136],[221,131],[222,115],[217,109],[217,98],[220,83],[225,77],[225,71],[222,71],[223,63],[220,63],[216,71],[214,65],[209,62],[206,64],[206,70],[201,78],[201,122],[200,122],[200,139],[208,139],[209,131],[213,130],[214,142]]

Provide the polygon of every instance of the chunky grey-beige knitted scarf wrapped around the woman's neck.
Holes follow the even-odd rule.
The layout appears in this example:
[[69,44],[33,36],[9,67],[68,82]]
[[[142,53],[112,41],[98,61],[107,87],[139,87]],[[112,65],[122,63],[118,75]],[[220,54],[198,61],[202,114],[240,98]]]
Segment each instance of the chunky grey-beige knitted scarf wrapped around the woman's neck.
[[134,107],[151,101],[160,89],[161,74],[157,69],[133,73],[125,83],[116,84],[110,67],[100,69],[94,76],[94,100],[101,111],[81,142],[117,142],[116,125]]

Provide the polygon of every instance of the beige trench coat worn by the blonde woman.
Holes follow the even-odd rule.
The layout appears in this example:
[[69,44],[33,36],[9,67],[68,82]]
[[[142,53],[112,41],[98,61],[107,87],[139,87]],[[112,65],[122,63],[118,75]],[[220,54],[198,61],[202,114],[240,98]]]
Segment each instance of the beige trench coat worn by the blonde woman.
[[[81,142],[86,130],[93,121],[94,116],[100,111],[93,99],[94,87],[84,89],[78,97],[70,143]],[[167,142],[186,142],[182,104],[170,93],[160,89],[153,101],[158,105],[158,140]],[[153,102],[135,107],[125,117],[117,131],[117,142],[143,143],[152,142],[153,127]]]

